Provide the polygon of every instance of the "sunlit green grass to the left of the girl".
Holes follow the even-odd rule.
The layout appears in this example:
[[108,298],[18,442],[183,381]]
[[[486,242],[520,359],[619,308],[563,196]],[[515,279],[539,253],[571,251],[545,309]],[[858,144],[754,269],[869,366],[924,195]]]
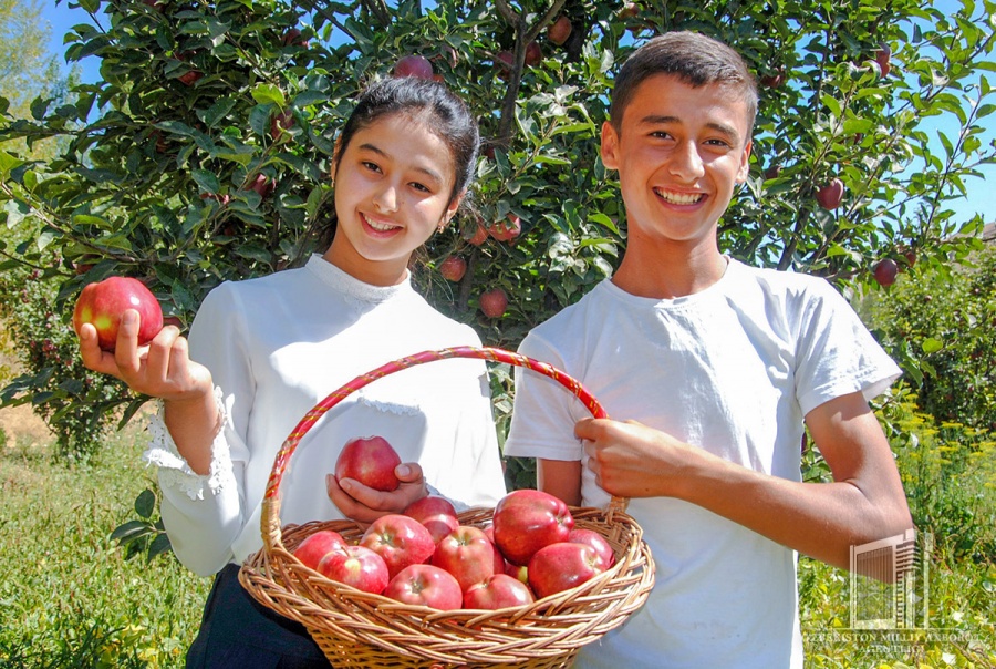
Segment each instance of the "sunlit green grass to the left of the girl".
[[152,476],[141,443],[125,431],[75,467],[43,446],[0,451],[0,668],[183,667],[209,579],[110,539]]

